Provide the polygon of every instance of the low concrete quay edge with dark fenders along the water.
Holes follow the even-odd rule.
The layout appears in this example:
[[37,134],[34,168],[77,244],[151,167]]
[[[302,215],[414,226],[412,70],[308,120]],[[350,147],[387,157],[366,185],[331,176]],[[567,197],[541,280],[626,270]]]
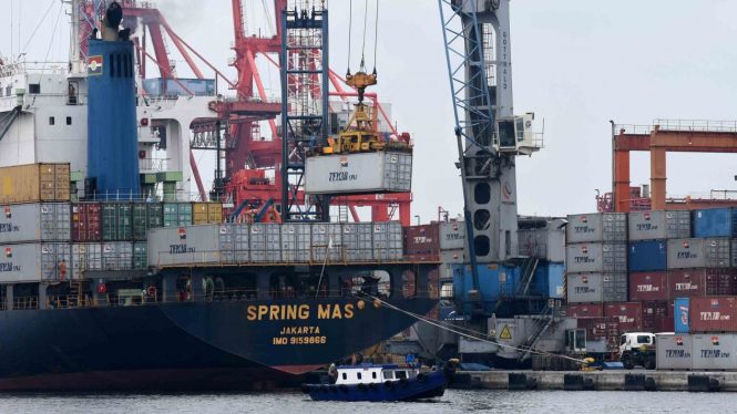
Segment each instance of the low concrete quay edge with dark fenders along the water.
[[462,371],[451,389],[737,392],[737,372]]

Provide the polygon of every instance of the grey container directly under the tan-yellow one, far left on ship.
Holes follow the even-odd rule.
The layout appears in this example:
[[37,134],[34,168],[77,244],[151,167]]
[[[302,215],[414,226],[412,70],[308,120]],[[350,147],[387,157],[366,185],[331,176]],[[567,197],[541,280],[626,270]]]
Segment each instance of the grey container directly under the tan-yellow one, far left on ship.
[[0,206],[0,244],[70,241],[69,203]]

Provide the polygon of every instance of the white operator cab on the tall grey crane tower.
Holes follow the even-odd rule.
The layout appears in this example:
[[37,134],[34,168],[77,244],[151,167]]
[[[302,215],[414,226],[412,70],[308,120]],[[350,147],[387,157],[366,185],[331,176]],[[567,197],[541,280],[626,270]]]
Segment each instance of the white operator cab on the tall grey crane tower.
[[504,154],[531,155],[543,147],[542,134],[532,132],[534,113],[506,116],[497,121],[494,149]]

